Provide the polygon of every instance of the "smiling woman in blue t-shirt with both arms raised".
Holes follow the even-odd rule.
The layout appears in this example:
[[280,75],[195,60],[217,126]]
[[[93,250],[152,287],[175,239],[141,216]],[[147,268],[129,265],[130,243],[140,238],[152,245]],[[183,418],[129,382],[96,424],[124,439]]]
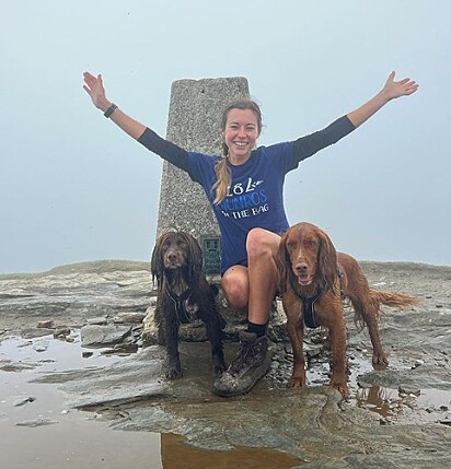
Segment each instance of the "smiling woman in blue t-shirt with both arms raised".
[[280,235],[288,228],[284,209],[285,175],[302,160],[337,142],[391,99],[415,93],[410,79],[394,81],[358,109],[327,128],[293,142],[256,146],[262,132],[258,106],[242,99],[223,112],[223,156],[187,152],[157,136],[107,99],[102,77],[84,73],[84,90],[95,107],[150,151],[186,171],[199,183],[215,211],[222,237],[221,288],[229,304],[247,313],[248,327],[240,332],[240,349],[228,371],[215,382],[220,396],[247,392],[270,367],[266,328],[278,284],[276,256]]

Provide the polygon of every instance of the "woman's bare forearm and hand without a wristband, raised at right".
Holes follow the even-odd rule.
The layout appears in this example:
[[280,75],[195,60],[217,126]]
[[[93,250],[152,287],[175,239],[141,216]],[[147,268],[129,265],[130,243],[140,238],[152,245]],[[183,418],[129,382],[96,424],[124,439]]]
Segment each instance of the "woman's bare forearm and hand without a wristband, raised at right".
[[418,90],[418,84],[415,83],[415,81],[408,78],[394,81],[394,78],[395,72],[390,73],[383,89],[374,97],[347,115],[348,119],[355,127],[361,126],[373,114],[389,103],[389,101],[401,96],[408,96]]

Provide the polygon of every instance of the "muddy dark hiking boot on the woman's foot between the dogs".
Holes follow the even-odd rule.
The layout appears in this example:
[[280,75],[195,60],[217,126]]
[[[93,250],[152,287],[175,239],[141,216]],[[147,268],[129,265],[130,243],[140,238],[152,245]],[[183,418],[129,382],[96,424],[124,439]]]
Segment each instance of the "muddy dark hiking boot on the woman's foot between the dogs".
[[229,368],[218,377],[213,390],[222,397],[248,392],[270,368],[270,353],[267,336],[240,331],[240,349]]

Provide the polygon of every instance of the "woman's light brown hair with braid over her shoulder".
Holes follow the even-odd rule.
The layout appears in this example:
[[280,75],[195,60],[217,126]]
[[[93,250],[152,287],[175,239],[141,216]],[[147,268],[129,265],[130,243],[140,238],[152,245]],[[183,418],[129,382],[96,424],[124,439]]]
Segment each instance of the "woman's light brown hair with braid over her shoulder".
[[[262,132],[262,110],[257,103],[255,103],[252,99],[236,99],[232,101],[222,112],[222,119],[221,119],[221,131],[226,130],[227,119],[229,117],[229,113],[232,109],[241,109],[241,110],[252,110],[255,114],[255,117],[257,118],[257,130],[258,133]],[[222,154],[223,159],[220,160],[216,166],[216,183],[213,184],[213,187],[211,190],[215,191],[215,200],[213,203],[221,203],[226,197],[227,191],[230,186],[230,168],[227,164],[227,159],[229,156],[229,146],[226,144],[226,142],[222,142]]]

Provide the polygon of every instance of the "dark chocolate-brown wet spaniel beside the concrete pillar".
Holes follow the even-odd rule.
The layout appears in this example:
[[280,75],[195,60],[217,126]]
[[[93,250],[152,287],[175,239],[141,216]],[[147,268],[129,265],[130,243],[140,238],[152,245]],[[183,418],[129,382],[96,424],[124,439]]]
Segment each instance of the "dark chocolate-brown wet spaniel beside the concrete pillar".
[[151,259],[153,280],[158,282],[154,319],[158,342],[166,348],[169,379],[182,376],[178,353],[181,324],[200,318],[211,343],[213,374],[226,370],[222,350],[224,320],[218,312],[215,293],[208,283],[203,251],[197,241],[185,232],[167,232],[157,239]]

